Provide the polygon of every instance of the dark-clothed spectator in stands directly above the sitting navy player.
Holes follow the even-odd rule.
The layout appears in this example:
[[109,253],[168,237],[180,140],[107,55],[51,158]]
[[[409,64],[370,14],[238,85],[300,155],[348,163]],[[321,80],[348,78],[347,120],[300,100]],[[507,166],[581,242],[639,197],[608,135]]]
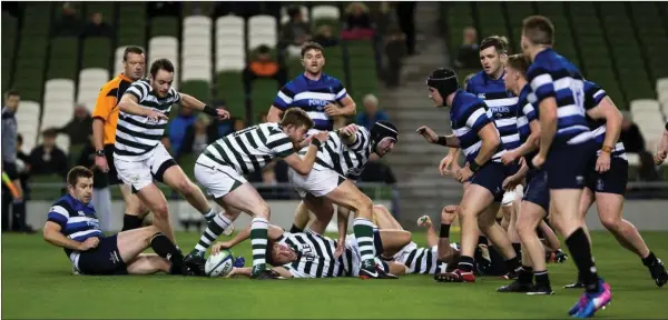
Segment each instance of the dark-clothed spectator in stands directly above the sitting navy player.
[[48,176],[58,174],[65,181],[68,163],[65,151],[56,146],[58,129],[51,128],[42,132],[42,144],[30,152],[30,174]]

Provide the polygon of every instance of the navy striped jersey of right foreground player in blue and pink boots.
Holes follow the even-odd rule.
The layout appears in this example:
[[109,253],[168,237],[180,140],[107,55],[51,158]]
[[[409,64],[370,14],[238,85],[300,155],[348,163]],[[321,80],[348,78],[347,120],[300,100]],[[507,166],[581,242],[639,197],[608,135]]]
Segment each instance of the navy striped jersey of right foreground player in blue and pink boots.
[[584,81],[578,68],[549,48],[536,56],[527,80],[534,93],[529,102],[537,109],[547,98],[557,100],[554,143],[577,144],[591,138],[584,119]]

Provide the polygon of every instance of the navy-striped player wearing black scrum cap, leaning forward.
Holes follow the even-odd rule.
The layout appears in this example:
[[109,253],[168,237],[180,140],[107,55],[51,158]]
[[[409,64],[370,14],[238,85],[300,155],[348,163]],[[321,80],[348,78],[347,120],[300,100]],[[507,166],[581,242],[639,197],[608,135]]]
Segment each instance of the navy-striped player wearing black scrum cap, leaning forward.
[[[428,79],[429,98],[436,107],[449,106],[452,136],[436,136],[429,127],[420,127],[418,133],[431,143],[461,148],[468,164],[455,176],[460,182],[471,180],[459,207],[462,228],[462,256],[458,268],[444,273],[442,281],[474,282],[474,251],[478,227],[492,240],[504,257],[508,270],[518,270],[515,254],[505,230],[495,221],[498,210],[487,210],[497,199],[501,200],[502,182],[507,168],[501,163],[504,152],[499,131],[488,117],[484,101],[459,89],[456,73],[450,69],[438,69]],[[498,208],[498,207],[497,207]],[[478,226],[477,226],[478,224]]]

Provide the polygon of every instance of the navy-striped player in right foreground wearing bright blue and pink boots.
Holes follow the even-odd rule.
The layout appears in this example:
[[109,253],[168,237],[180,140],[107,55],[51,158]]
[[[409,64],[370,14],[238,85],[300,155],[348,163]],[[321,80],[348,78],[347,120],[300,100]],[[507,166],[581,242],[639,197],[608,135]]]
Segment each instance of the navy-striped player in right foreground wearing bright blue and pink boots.
[[552,49],[554,27],[548,18],[524,19],[521,39],[522,51],[532,61],[527,71],[529,102],[537,106],[540,122],[540,149],[532,164],[548,174],[551,219],[586,287],[569,314],[587,318],[610,302],[611,292],[597,274],[578,208],[593,149],[584,117],[584,83],[580,71]]

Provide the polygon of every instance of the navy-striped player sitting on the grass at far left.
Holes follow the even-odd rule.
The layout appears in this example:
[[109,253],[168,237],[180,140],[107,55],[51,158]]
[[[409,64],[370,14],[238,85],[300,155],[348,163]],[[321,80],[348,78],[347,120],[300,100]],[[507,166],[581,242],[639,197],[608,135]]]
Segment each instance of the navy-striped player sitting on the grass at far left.
[[[156,227],[105,237],[92,198],[92,171],[75,167],[67,174],[68,194],[49,210],[45,240],[65,249],[72,270],[82,274],[183,273],[183,254]],[[158,254],[141,253],[151,247]]]

